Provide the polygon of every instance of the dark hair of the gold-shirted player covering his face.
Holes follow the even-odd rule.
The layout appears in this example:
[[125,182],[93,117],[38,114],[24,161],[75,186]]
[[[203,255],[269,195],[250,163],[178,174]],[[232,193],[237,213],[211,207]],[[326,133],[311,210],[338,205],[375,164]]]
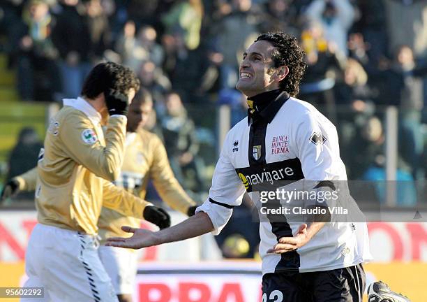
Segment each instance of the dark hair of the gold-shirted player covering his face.
[[113,62],[100,63],[93,67],[82,88],[82,96],[95,99],[101,92],[109,89],[127,94],[129,89],[140,89],[140,80],[128,67]]

